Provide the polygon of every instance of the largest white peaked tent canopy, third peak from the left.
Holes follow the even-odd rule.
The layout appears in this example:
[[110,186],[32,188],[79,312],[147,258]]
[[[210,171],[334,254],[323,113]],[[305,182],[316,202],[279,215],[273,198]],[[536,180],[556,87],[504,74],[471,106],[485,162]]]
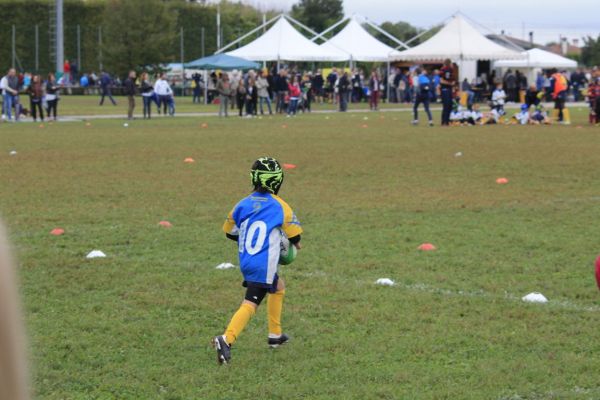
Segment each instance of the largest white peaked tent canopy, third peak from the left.
[[411,49],[401,51],[394,60],[453,61],[522,59],[516,51],[496,44],[481,34],[462,15],[456,14],[430,39]]

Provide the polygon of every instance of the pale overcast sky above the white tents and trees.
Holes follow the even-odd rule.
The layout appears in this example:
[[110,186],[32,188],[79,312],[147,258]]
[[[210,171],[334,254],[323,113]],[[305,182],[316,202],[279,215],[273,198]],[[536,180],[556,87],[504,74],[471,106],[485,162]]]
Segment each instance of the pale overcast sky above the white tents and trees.
[[[259,7],[289,10],[297,0],[246,0]],[[498,6],[502,4],[502,6]],[[600,34],[598,0],[344,0],[346,15],[363,15],[376,23],[406,21],[428,28],[457,10],[495,32],[502,29],[517,38],[533,31],[535,41],[545,44]]]

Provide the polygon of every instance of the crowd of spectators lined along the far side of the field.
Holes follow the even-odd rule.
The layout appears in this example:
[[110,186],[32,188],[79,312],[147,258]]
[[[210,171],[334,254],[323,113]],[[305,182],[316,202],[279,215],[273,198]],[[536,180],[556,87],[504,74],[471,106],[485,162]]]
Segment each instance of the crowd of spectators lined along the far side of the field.
[[[312,110],[314,103],[330,103],[344,112],[349,103],[368,103],[371,110],[378,110],[381,101],[392,104],[412,104],[413,123],[419,121],[418,110],[423,106],[430,125],[433,125],[430,105],[441,102],[442,125],[468,123],[494,123],[505,116],[504,105],[517,103],[527,106],[530,116],[544,113],[539,106],[554,102],[555,111],[548,120],[568,122],[567,101],[588,101],[590,121],[600,122],[600,87],[597,68],[566,71],[549,70],[538,73],[535,82],[528,82],[521,71],[507,70],[503,76],[496,72],[482,74],[471,81],[458,82],[457,67],[449,60],[442,66],[394,67],[389,75],[385,69],[373,68],[370,73],[363,69],[342,68],[301,71],[296,67],[284,67],[247,72],[212,71],[207,82],[199,73],[184,82],[191,89],[192,102],[219,104],[219,115],[230,113],[251,118],[257,115],[283,114],[294,117]],[[144,72],[139,76],[131,71],[126,79],[112,77],[102,71],[80,74],[78,66],[65,61],[64,73],[56,79],[53,74],[41,76],[17,73],[10,69],[0,80],[2,91],[2,120],[18,121],[31,116],[34,121],[56,119],[61,93],[78,90],[78,93],[98,95],[99,105],[108,99],[117,105],[113,93],[125,95],[128,118],[133,118],[136,98],[141,96],[143,116],[175,114],[173,82],[165,73]],[[204,99],[206,93],[206,99]],[[29,102],[24,99],[29,97]],[[487,113],[479,116],[481,104],[488,104]],[[524,109],[524,107],[523,107]],[[465,113],[468,114],[465,117]],[[565,115],[567,114],[567,115]],[[540,114],[541,115],[541,114]],[[459,118],[460,116],[460,118]],[[539,118],[538,118],[539,119]],[[485,122],[482,122],[485,121]]]

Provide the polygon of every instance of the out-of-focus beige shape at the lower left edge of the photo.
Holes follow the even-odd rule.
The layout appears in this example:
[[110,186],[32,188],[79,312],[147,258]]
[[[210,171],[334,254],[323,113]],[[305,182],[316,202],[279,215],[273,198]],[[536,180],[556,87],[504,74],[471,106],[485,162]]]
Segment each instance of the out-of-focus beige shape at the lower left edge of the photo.
[[28,400],[15,271],[0,223],[0,400]]

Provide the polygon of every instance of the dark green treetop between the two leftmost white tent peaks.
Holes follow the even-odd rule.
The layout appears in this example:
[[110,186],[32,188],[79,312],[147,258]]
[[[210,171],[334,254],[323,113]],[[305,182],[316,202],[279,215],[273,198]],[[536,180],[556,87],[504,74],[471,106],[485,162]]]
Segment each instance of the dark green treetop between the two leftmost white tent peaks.
[[323,32],[344,17],[342,0],[300,0],[292,17],[316,32]]

